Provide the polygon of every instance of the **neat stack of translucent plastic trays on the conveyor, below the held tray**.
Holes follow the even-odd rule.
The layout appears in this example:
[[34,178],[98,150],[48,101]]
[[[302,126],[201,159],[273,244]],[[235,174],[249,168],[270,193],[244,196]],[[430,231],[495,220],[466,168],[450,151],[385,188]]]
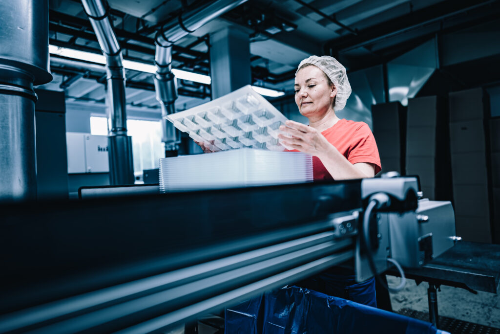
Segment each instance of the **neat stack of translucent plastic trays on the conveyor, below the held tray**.
[[243,148],[162,158],[160,192],[312,181],[312,157],[300,152]]

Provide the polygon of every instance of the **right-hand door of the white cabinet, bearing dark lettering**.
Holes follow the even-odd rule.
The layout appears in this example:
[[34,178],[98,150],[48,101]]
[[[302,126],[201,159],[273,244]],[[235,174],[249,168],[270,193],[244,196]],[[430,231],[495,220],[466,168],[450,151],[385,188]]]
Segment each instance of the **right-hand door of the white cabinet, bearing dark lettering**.
[[85,134],[86,171],[88,173],[109,172],[107,136]]

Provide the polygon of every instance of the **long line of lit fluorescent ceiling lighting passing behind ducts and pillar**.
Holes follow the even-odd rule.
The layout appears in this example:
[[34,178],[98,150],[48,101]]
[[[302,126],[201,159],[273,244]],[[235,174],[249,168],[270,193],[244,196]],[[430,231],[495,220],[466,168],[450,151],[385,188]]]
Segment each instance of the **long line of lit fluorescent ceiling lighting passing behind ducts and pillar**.
[[[74,50],[74,49],[61,48],[61,47],[56,47],[53,45],[48,46],[48,52],[52,55],[57,55],[57,56],[66,57],[66,58],[72,58],[75,60],[82,60],[82,61],[102,64],[102,65],[106,64],[106,58],[103,55],[98,55],[98,54],[94,54],[91,52],[84,52],[84,51],[79,51],[79,50]],[[145,72],[145,73],[151,73],[151,74],[156,73],[156,66],[151,65],[151,64],[123,60],[123,67],[127,70],[133,70],[133,71],[139,71],[139,72]],[[206,85],[210,85],[210,83],[211,83],[211,78],[209,76],[205,76],[203,74],[182,71],[182,70],[177,70],[177,69],[172,69],[172,73],[177,79],[180,79],[180,80],[189,80],[189,81],[198,82],[198,83],[206,84]],[[255,92],[257,92],[261,95],[269,96],[269,97],[277,97],[277,96],[284,95],[283,92],[278,92],[278,91],[268,89],[268,88],[256,87],[256,86],[252,86],[252,88]]]

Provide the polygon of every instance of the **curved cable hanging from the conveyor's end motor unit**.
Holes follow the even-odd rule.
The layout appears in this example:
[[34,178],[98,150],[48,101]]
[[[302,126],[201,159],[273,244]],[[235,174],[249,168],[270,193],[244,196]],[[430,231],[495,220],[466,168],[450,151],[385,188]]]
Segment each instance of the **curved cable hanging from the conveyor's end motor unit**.
[[371,243],[370,243],[370,233],[369,233],[369,224],[370,224],[370,218],[372,211],[374,209],[379,209],[383,206],[388,206],[390,203],[390,198],[384,193],[376,193],[370,197],[370,201],[368,202],[368,205],[366,206],[366,210],[364,211],[364,216],[363,216],[363,239],[364,239],[364,244],[366,246],[366,257],[368,259],[368,265],[370,267],[371,272],[373,273],[373,276],[375,277],[375,280],[380,283],[384,288],[386,288],[389,292],[398,292],[400,291],[404,285],[406,285],[406,277],[404,277],[404,272],[397,263],[396,260],[387,258],[386,260],[393,263],[397,270],[399,271],[399,274],[401,275],[401,282],[399,283],[398,286],[392,288],[389,287],[387,284],[385,284],[380,275],[378,274],[375,266],[375,261],[373,260],[373,254],[371,250]]

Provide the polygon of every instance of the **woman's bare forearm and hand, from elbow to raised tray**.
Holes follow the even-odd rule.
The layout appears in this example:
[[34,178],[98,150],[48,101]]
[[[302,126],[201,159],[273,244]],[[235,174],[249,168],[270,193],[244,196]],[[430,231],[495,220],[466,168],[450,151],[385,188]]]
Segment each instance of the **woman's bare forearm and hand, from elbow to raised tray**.
[[375,176],[375,167],[369,163],[351,164],[335,146],[314,128],[304,124],[286,121],[280,130],[291,135],[278,135],[280,142],[290,149],[316,156],[321,160],[334,180],[360,179]]

